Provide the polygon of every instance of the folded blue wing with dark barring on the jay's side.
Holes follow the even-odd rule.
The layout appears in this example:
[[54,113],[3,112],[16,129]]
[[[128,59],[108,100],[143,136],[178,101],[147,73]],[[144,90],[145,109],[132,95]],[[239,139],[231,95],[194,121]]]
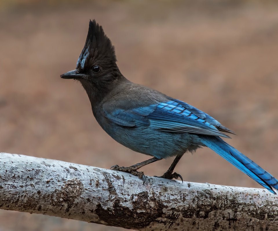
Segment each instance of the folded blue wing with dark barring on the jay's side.
[[117,109],[106,115],[112,122],[127,127],[152,126],[168,132],[222,137],[229,137],[222,132],[233,133],[208,114],[180,100],[129,110]]

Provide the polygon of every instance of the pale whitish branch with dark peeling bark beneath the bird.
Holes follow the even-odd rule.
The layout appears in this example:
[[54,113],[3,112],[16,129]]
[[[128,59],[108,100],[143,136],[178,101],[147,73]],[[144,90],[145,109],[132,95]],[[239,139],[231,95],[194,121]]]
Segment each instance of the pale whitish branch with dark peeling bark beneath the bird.
[[0,208],[134,230],[278,230],[266,189],[142,179],[63,161],[0,153]]

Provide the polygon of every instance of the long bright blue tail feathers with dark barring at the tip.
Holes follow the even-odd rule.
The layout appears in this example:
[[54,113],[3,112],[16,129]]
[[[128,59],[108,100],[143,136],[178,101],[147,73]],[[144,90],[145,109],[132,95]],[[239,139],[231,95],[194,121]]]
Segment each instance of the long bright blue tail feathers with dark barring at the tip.
[[260,185],[268,189],[268,191],[273,194],[276,194],[273,189],[278,191],[278,180],[276,178],[262,169],[254,161],[244,156],[244,154],[227,144],[220,137],[202,137],[202,143],[257,181]]

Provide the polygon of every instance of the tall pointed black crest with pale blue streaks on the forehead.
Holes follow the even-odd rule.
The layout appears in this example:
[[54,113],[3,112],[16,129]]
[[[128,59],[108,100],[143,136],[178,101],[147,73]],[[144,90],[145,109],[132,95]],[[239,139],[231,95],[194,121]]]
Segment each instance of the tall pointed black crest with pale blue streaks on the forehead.
[[102,26],[95,20],[90,20],[87,39],[77,60],[76,69],[84,70],[96,64],[111,65],[116,61],[114,46],[105,35]]

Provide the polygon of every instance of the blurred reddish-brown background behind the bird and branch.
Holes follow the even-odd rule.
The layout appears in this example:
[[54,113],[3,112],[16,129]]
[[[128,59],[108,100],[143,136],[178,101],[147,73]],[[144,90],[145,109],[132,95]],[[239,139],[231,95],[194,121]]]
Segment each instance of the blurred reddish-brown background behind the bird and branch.
[[[278,177],[276,1],[0,1],[0,152],[109,168],[148,159],[97,124],[73,70],[89,19],[103,26],[129,80],[205,111],[228,142]],[[144,168],[162,175],[167,159]],[[184,180],[260,187],[208,148],[185,154]],[[0,230],[123,230],[0,210]]]

